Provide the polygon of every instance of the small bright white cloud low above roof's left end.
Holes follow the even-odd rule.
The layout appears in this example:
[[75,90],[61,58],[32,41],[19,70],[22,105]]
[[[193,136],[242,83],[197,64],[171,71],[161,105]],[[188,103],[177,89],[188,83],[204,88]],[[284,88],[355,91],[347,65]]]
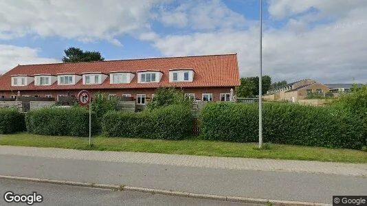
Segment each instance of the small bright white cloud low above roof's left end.
[[38,49],[30,47],[16,47],[14,45],[0,45],[0,74],[16,67],[16,65],[43,64],[60,62],[54,58],[41,58]]

